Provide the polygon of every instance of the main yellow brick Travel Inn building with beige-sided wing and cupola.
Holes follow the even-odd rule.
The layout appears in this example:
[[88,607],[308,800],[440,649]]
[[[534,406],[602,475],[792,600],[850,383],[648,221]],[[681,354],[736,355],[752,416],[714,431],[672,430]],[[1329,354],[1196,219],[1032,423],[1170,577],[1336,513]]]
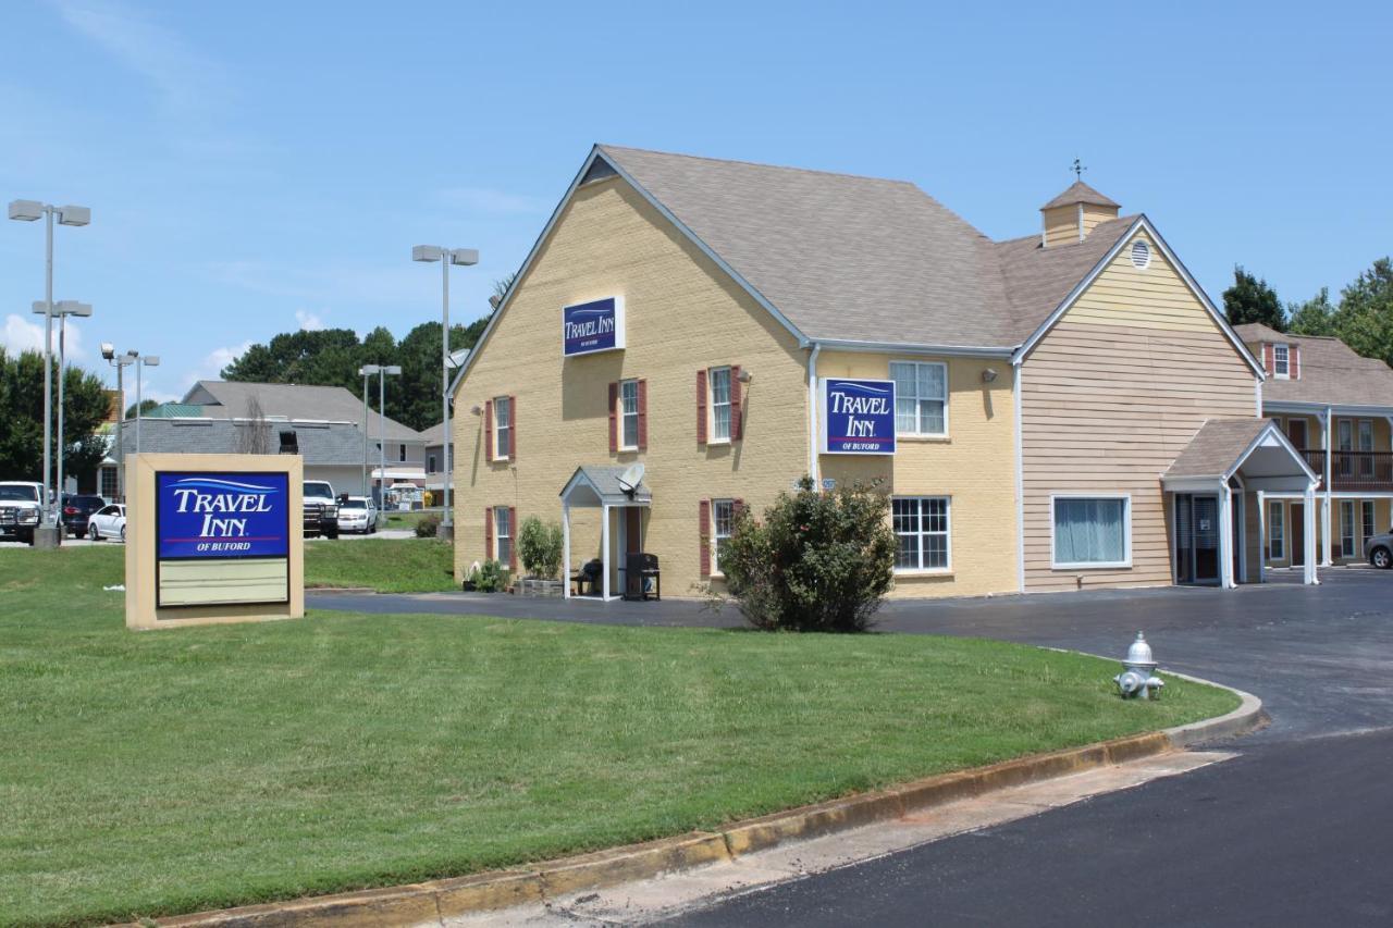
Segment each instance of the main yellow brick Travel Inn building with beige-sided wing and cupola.
[[539,516],[610,592],[638,550],[719,589],[734,514],[809,474],[892,496],[900,596],[1259,580],[1259,493],[1316,477],[1119,212],[1080,183],[996,242],[903,181],[596,146],[456,379],[457,573]]

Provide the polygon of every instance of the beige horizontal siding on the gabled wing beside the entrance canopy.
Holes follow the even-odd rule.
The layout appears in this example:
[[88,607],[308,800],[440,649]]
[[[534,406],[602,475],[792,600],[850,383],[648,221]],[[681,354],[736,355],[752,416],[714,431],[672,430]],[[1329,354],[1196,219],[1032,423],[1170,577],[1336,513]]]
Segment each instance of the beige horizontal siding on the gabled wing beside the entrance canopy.
[[[1255,414],[1255,378],[1158,249],[1123,249],[1041,340],[1022,375],[1027,589],[1172,582],[1160,474],[1212,417]],[[1050,497],[1128,493],[1131,566],[1055,570]]]

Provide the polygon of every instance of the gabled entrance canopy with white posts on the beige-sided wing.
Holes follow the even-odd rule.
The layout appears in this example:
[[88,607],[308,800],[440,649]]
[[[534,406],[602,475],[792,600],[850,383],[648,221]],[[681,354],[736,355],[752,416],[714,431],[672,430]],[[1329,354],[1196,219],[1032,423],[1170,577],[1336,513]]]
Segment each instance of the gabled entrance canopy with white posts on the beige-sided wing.
[[[1217,493],[1219,507],[1219,564],[1224,587],[1234,587],[1233,578],[1233,492],[1301,493],[1305,497],[1305,575],[1308,584],[1318,582],[1315,560],[1315,488],[1321,478],[1305,463],[1305,457],[1287,440],[1272,419],[1206,419],[1190,444],[1162,474],[1167,493]],[[1259,514],[1262,509],[1259,507]]]

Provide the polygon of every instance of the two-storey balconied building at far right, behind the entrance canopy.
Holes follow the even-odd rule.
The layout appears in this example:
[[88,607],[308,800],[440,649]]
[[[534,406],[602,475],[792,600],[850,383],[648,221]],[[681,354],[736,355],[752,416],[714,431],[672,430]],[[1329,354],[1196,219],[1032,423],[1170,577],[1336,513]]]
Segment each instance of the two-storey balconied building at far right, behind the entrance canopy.
[[[1262,412],[1321,477],[1321,564],[1364,560],[1364,541],[1393,524],[1393,369],[1333,337],[1237,326],[1262,358]],[[1269,566],[1302,563],[1304,500],[1268,495],[1262,538]]]

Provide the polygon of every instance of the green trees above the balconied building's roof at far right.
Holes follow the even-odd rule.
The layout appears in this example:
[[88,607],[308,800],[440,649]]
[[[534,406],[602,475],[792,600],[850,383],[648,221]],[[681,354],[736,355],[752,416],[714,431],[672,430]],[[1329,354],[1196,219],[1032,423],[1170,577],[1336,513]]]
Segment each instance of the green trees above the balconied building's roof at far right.
[[1262,325],[1298,336],[1334,336],[1355,353],[1393,366],[1393,262],[1379,258],[1340,290],[1329,287],[1301,302],[1283,304],[1266,280],[1233,269],[1233,286],[1223,291],[1224,315],[1233,325]]

